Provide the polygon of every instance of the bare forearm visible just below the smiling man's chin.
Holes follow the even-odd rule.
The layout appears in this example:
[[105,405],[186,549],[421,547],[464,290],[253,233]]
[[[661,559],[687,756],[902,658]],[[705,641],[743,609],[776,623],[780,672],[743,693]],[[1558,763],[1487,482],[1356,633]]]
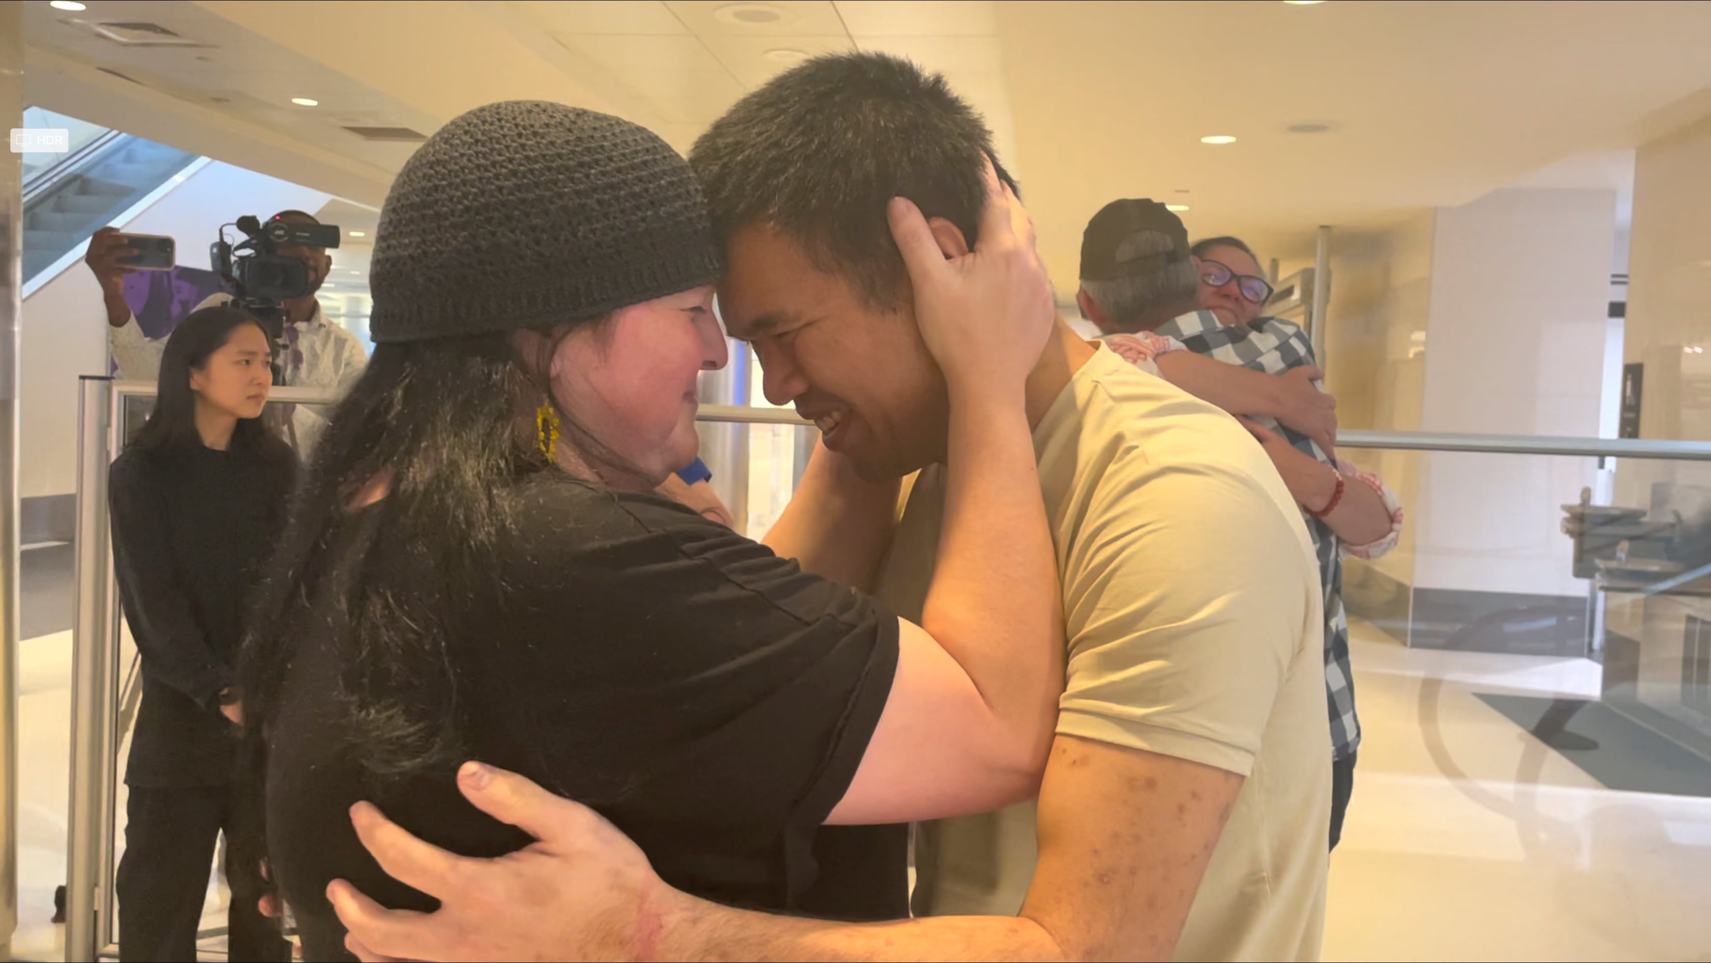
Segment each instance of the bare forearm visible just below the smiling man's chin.
[[796,496],[761,541],[814,575],[871,592],[891,546],[897,493],[898,482],[861,481],[845,458],[814,445]]

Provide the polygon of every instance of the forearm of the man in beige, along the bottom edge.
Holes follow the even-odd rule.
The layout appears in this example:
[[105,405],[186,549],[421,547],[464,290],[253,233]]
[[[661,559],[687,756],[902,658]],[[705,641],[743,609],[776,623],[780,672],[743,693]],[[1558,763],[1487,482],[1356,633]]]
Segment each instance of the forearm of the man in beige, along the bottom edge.
[[638,960],[1066,960],[1025,917],[932,917],[840,924],[732,910],[681,896],[638,920]]

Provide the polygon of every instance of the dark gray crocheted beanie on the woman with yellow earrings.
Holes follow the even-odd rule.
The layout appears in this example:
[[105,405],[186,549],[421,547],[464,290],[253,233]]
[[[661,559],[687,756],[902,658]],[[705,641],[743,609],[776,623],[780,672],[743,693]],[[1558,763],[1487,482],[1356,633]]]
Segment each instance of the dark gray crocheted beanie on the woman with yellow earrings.
[[375,344],[541,328],[712,284],[724,257],[690,164],[654,132],[548,101],[428,139],[380,210]]

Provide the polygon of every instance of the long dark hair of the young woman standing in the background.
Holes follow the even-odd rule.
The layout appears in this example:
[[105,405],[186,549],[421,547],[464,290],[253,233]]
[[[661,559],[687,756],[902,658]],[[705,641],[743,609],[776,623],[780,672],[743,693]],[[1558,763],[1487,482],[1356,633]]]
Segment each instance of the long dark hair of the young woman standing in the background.
[[[161,354],[161,380],[154,411],[149,414],[149,421],[137,429],[130,448],[195,452],[202,446],[202,433],[197,431],[197,392],[190,387],[190,375],[207,366],[209,357],[231,340],[231,332],[243,325],[263,330],[255,315],[226,304],[192,311],[178,322],[173,335],[166,339],[166,351]],[[287,464],[294,458],[291,446],[262,417],[238,419],[229,450],[277,464]]]

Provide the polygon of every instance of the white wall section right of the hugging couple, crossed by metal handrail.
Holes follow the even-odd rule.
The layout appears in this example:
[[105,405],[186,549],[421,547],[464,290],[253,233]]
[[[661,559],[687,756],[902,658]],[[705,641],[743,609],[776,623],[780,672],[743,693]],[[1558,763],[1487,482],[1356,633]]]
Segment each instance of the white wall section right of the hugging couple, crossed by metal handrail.
[[[1615,192],[1499,190],[1439,209],[1422,431],[1596,436]],[[1578,595],[1560,505],[1590,458],[1422,458],[1415,587]]]

